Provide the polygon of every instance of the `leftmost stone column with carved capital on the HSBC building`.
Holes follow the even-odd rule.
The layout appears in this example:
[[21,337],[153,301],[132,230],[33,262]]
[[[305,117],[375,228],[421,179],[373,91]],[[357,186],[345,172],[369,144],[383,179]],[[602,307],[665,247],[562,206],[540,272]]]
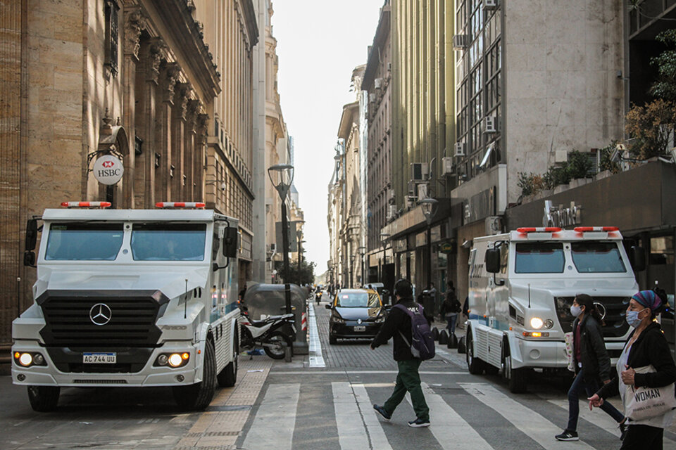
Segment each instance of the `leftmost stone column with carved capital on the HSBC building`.
[[139,49],[141,30],[144,27],[144,19],[141,9],[125,9],[124,23],[124,63],[122,68],[123,86],[123,115],[122,126],[127,130],[129,154],[125,155],[125,174],[122,179],[121,206],[123,208],[134,207],[135,168],[136,153],[134,143],[136,138],[136,70],[139,62]]

